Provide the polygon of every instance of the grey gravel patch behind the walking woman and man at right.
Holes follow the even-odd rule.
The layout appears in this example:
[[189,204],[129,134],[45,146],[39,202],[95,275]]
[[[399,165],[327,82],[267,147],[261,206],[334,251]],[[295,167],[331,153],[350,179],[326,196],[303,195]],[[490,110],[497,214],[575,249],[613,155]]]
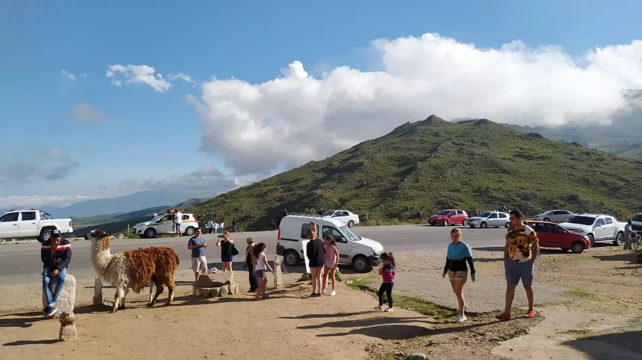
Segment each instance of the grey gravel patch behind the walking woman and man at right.
[[[464,288],[464,297],[468,311],[487,313],[504,308],[506,280],[503,272],[502,250],[497,247],[474,248],[473,261],[476,270],[476,281],[469,277]],[[436,304],[456,307],[457,300],[448,279],[441,274],[446,263],[446,249],[404,251],[394,254],[397,263],[394,293],[429,299]],[[359,277],[359,275],[349,275]],[[372,284],[379,278],[376,272],[369,274]],[[568,300],[562,295],[566,290],[561,286],[537,282],[537,264],[535,264],[535,303],[550,303]],[[525,306],[526,293],[521,286],[515,291],[513,306]]]

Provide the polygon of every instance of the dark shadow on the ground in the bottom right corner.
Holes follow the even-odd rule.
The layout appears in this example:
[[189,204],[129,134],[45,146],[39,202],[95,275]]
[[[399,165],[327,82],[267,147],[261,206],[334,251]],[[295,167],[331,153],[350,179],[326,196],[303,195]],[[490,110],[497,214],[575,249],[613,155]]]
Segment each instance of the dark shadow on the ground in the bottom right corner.
[[613,350],[618,348],[618,359],[642,359],[642,331],[626,331],[614,334],[591,336],[566,341],[565,345],[576,348],[594,360],[614,359]]

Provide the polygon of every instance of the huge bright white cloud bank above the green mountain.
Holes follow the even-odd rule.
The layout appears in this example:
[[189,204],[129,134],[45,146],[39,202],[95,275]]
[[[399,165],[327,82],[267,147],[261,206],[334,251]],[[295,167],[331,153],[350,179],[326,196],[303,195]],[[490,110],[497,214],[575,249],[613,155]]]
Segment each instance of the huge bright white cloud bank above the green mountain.
[[[642,87],[642,41],[573,59],[555,46],[480,49],[436,34],[376,40],[381,71],[337,67],[320,79],[294,61],[261,84],[213,79],[195,104],[202,150],[236,174],[320,160],[432,113],[512,124],[609,122]],[[582,64],[582,66],[577,64]]]

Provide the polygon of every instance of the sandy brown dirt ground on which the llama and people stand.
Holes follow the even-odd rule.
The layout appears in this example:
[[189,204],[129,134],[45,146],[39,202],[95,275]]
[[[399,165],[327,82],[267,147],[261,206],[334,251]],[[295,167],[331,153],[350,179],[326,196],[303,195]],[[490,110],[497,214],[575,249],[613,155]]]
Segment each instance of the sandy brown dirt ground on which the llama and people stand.
[[[483,310],[496,310],[504,291],[501,252],[473,251],[479,280],[467,285],[471,308],[487,300],[491,305]],[[443,254],[431,253],[395,254],[395,293],[454,306],[447,281],[438,277]],[[413,352],[429,359],[641,359],[642,265],[632,261],[633,253],[615,247],[583,254],[544,250],[535,270],[538,316],[497,322],[494,311],[463,324],[401,307],[374,311],[372,293],[342,283],[334,297],[309,298],[309,284],[295,282],[300,274],[284,275],[291,284],[266,300],[248,293],[198,299],[191,295],[193,274],[185,269],[177,274],[174,306],[144,307],[143,290],[130,294],[128,309],[108,314],[106,306],[89,305],[93,281],[79,279],[78,340],[68,343],[57,341],[57,320],[42,316],[39,284],[1,286],[1,352],[6,359],[403,359]],[[363,277],[343,272],[344,279]],[[247,291],[246,275],[236,272],[235,278]],[[537,286],[549,288],[541,291],[548,295],[538,295]],[[105,299],[113,293],[103,290]],[[21,306],[6,309],[8,304]]]

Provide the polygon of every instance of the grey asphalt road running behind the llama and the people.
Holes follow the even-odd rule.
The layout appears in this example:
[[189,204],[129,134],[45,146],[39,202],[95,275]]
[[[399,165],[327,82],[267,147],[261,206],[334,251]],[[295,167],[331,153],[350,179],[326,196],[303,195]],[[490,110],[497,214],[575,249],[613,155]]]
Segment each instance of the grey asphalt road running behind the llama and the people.
[[[365,238],[379,241],[385,251],[408,251],[443,249],[450,241],[449,232],[453,227],[428,226],[428,225],[396,225],[396,226],[364,226],[352,228],[354,232]],[[473,246],[503,245],[505,229],[470,229],[460,227],[464,233],[464,240]],[[257,231],[232,234],[236,240],[239,251],[245,250],[245,238],[252,236],[256,243],[268,244],[268,258],[275,256],[277,231]],[[220,250],[216,245],[216,234],[204,235],[209,247],[205,250],[208,263],[220,268]],[[112,254],[137,247],[152,245],[168,246],[180,256],[180,267],[189,268],[191,264],[190,252],[187,250],[187,236],[182,238],[157,238],[157,239],[131,239],[112,240]],[[69,273],[77,279],[91,278],[96,275],[91,266],[90,241],[71,241],[72,259]],[[232,264],[233,268],[241,268],[243,257],[237,256]],[[302,266],[302,265],[300,265]],[[26,284],[40,282],[42,263],[40,262],[40,243],[0,245],[0,286],[13,284]]]

